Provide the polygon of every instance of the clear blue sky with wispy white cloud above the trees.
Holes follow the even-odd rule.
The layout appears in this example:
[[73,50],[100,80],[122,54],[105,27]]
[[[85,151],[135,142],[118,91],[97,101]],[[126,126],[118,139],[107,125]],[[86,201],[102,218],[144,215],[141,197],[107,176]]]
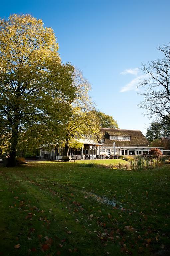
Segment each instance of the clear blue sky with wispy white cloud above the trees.
[[137,104],[141,63],[161,57],[168,43],[170,1],[56,0],[3,1],[0,17],[31,14],[52,27],[63,62],[80,68],[92,85],[91,96],[122,129],[139,129],[150,120]]

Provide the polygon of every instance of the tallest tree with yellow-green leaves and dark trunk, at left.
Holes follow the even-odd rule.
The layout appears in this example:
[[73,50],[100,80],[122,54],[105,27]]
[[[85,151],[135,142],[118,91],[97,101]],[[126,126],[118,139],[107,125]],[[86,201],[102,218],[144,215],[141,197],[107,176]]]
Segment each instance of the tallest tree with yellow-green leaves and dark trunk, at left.
[[54,32],[42,20],[17,14],[0,20],[0,115],[11,129],[10,165],[15,165],[20,128],[54,115],[60,123],[58,95],[74,97],[73,71],[61,63]]

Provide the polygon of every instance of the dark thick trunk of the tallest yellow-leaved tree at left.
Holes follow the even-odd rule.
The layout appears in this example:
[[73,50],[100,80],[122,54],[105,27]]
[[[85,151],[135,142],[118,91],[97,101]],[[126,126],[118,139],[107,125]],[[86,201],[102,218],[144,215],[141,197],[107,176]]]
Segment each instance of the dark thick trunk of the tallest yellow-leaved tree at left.
[[11,150],[10,150],[8,166],[16,165],[17,139],[18,139],[18,122],[14,122],[12,126]]

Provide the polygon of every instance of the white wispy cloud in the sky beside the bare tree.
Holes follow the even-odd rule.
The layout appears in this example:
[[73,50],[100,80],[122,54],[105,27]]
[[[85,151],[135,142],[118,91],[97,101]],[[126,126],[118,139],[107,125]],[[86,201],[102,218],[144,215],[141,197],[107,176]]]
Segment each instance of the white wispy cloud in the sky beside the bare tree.
[[135,78],[133,78],[128,84],[123,86],[120,90],[120,92],[127,92],[127,91],[132,91],[135,90],[137,91],[137,85],[140,80],[144,80],[145,78],[148,77],[148,75],[142,74],[139,68],[134,68],[134,69],[126,69],[123,72],[120,73],[121,75],[127,75],[131,74],[134,75]]

